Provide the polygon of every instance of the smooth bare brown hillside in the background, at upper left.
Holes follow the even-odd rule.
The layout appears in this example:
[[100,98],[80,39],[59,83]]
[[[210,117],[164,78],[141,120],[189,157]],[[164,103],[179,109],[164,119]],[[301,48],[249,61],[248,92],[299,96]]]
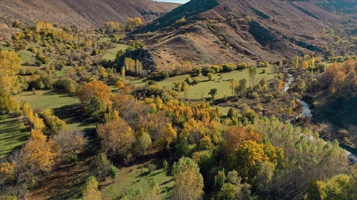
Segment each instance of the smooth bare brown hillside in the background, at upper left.
[[124,24],[129,17],[144,22],[156,19],[180,4],[151,0],[1,0],[0,22],[19,19],[28,25],[38,20],[78,28],[100,28],[106,22]]

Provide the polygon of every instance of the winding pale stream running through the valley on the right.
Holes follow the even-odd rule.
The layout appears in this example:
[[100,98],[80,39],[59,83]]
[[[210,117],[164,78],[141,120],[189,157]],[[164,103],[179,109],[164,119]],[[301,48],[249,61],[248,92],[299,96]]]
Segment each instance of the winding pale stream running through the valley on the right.
[[[290,68],[286,69],[285,72],[287,72],[288,70],[290,70]],[[283,92],[288,93],[288,96],[289,96],[290,98],[294,98],[294,99],[297,100],[299,103],[301,103],[302,112],[301,112],[298,116],[296,116],[295,118],[289,119],[289,120],[287,120],[287,121],[288,121],[288,122],[292,122],[292,121],[298,119],[298,117],[300,117],[300,116],[302,116],[302,117],[312,117],[312,113],[311,113],[311,110],[310,110],[310,105],[309,105],[307,102],[305,102],[304,100],[302,100],[302,99],[298,99],[298,98],[293,97],[293,96],[288,92],[288,90],[289,90],[289,88],[290,88],[290,85],[291,85],[291,84],[294,82],[294,80],[295,80],[294,75],[288,73],[288,76],[289,76],[289,80],[285,83],[284,88],[283,88]],[[310,139],[313,140],[314,138],[311,136]],[[346,157],[347,157],[347,159],[349,160],[349,162],[352,163],[352,164],[357,163],[357,155],[354,154],[354,153],[352,153],[351,151],[346,150],[346,149],[344,149],[344,150],[345,150],[345,152],[346,152]]]

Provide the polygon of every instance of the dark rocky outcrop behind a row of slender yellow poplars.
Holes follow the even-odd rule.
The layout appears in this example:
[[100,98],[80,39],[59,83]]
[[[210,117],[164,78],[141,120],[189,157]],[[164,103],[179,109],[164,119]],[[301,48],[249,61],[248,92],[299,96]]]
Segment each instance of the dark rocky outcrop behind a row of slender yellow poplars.
[[117,72],[120,72],[120,68],[124,66],[124,59],[131,58],[133,60],[139,60],[143,64],[143,70],[146,70],[148,73],[154,72],[156,70],[156,62],[151,52],[147,49],[138,49],[138,50],[128,50],[119,59],[117,59],[118,69]]

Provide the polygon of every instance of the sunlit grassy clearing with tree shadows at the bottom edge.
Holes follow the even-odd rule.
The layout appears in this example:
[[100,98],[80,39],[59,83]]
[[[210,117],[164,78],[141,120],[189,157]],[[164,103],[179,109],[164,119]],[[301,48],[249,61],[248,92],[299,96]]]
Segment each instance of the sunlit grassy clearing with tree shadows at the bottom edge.
[[[156,169],[149,171],[149,165]],[[151,160],[129,168],[120,169],[119,176],[101,183],[101,192],[104,200],[116,200],[124,193],[129,200],[134,200],[135,190],[141,190],[145,194],[150,189],[150,182],[157,181],[161,188],[161,199],[170,199],[173,186],[172,176],[162,166],[162,160]]]

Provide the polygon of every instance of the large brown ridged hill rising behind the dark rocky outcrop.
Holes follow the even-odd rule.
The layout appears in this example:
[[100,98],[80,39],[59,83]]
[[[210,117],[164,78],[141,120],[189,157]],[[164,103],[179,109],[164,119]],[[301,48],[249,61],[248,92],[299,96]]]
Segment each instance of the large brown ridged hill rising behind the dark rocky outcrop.
[[131,37],[162,64],[277,61],[323,52],[339,18],[306,1],[191,0]]

